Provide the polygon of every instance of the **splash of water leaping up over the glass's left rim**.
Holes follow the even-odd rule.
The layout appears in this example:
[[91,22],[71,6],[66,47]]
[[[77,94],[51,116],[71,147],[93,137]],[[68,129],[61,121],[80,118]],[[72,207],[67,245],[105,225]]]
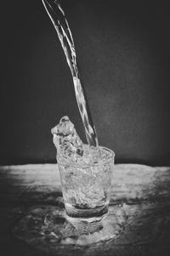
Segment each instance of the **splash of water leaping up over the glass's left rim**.
[[58,153],[78,162],[83,156],[82,140],[69,117],[62,117],[59,124],[51,129],[51,132],[54,135],[54,145]]

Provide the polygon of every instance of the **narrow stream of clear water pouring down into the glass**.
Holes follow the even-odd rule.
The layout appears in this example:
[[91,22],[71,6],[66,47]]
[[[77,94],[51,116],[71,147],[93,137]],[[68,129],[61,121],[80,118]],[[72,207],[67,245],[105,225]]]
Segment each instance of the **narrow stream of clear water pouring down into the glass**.
[[71,34],[71,29],[69,27],[68,21],[65,18],[65,13],[63,9],[61,9],[59,1],[57,0],[42,0],[42,3],[49,15],[49,18],[53,22],[55,30],[57,31],[59,41],[65,52],[65,57],[71,70],[77,98],[77,105],[82,117],[88,145],[98,148],[98,138],[89,110],[85,89],[82,84],[80,71],[78,69],[76,49]]

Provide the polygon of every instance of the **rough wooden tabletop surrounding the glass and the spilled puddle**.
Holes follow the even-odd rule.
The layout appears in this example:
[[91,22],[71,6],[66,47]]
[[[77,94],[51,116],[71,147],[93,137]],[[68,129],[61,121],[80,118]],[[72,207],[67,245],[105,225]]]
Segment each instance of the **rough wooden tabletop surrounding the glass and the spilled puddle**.
[[40,208],[64,208],[57,165],[0,167],[0,255],[170,255],[170,168],[117,164],[111,181],[110,208],[127,213],[119,236],[88,246],[52,247],[46,239],[44,246],[24,221]]

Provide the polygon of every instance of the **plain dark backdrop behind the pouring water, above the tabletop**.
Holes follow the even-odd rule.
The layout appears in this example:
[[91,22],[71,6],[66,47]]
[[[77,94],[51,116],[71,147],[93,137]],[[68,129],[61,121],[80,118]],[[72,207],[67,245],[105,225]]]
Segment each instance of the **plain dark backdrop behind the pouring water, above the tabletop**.
[[[167,2],[60,0],[99,144],[116,162],[170,164]],[[60,117],[85,141],[65,55],[41,0],[1,3],[1,12],[0,164],[55,162],[50,129]]]

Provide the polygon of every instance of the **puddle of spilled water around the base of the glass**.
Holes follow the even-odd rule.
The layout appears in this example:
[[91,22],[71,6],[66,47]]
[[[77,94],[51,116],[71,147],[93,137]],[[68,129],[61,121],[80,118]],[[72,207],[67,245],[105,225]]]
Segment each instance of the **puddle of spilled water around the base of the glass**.
[[87,233],[81,226],[65,219],[65,209],[54,206],[32,206],[14,226],[14,236],[42,251],[57,252],[59,247],[90,246],[114,240],[122,234],[127,224],[127,205],[111,206],[99,229]]

